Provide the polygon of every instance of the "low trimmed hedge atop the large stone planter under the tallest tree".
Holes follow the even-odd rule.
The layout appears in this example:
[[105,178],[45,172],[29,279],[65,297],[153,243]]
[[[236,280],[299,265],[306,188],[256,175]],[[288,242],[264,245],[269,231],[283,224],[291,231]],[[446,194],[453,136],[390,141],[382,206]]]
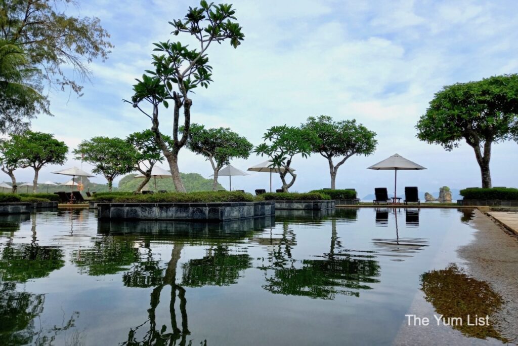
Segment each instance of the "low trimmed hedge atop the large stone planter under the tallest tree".
[[167,192],[153,195],[135,195],[133,193],[98,193],[94,197],[98,202],[113,203],[211,203],[211,202],[252,202],[250,193],[240,191],[200,191]]

